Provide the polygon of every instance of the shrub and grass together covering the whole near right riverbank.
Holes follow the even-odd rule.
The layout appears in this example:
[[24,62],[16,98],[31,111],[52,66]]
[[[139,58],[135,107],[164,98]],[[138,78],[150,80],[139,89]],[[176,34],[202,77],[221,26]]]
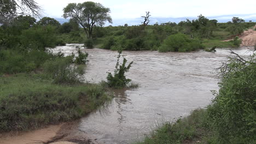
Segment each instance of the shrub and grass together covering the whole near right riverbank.
[[255,143],[256,55],[234,54],[218,69],[220,89],[207,109],[159,125],[138,143]]

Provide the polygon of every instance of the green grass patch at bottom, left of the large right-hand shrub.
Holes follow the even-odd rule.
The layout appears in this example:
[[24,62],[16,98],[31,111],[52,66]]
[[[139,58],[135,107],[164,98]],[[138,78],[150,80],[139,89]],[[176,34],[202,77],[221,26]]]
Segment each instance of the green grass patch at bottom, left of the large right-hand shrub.
[[206,115],[205,109],[197,109],[191,112],[188,117],[179,118],[174,123],[163,123],[143,142],[137,142],[137,144],[214,143],[216,137],[212,131],[208,130]]

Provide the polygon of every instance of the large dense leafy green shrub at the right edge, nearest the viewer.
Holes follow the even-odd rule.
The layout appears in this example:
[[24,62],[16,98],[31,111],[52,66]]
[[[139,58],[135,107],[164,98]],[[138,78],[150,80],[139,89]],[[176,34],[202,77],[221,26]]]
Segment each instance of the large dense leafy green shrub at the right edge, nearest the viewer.
[[[232,52],[234,53],[234,52]],[[237,54],[236,54],[237,55]],[[223,143],[253,143],[256,132],[255,53],[245,60],[237,55],[219,68],[221,81],[208,107],[209,121]]]

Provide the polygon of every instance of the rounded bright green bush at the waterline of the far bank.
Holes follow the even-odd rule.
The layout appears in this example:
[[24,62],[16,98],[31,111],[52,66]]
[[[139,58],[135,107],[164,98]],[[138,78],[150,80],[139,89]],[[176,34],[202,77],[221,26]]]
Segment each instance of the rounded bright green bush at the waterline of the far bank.
[[202,49],[203,45],[199,40],[189,39],[185,34],[170,35],[159,47],[160,52],[178,51],[187,52]]

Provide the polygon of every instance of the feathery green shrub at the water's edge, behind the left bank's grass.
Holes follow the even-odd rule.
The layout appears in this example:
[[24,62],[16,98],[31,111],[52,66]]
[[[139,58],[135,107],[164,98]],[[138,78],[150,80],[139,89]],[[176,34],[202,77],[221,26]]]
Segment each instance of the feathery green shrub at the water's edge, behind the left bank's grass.
[[72,57],[56,58],[50,61],[46,61],[43,65],[45,74],[53,79],[54,83],[57,84],[69,84],[82,82],[80,79],[81,70],[75,65],[71,65]]

